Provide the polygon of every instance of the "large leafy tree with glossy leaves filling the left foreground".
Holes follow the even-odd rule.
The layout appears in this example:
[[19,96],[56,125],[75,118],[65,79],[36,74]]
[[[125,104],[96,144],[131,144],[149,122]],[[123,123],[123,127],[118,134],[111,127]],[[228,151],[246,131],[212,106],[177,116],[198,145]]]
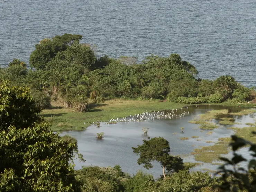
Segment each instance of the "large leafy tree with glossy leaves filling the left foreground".
[[0,191],[80,191],[75,144],[49,130],[28,88],[0,82]]

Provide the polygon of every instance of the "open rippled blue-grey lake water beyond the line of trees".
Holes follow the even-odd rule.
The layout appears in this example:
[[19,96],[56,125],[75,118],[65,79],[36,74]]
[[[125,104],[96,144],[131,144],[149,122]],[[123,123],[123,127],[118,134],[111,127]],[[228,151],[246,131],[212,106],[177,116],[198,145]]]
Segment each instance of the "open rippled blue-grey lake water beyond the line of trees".
[[0,63],[28,63],[34,45],[64,33],[83,35],[97,56],[178,53],[199,77],[256,79],[256,1],[1,0]]

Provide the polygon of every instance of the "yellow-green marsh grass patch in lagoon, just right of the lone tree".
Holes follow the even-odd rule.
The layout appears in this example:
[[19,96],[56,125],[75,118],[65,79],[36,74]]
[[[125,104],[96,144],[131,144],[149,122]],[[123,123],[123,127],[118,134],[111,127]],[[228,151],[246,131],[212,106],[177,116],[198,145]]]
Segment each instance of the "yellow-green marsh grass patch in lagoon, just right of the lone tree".
[[191,155],[194,155],[195,161],[212,163],[219,159],[221,154],[228,154],[231,138],[220,138],[215,145],[203,146],[200,149],[194,149]]

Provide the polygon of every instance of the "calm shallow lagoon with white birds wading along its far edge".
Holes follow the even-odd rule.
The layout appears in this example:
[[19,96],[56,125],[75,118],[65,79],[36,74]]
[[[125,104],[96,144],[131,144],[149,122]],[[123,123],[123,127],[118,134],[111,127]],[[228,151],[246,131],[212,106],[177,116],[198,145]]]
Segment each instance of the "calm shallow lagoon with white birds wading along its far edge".
[[[256,113],[246,116],[235,116],[235,124],[232,126],[218,124],[217,120],[212,120],[220,126],[214,130],[202,131],[198,124],[189,123],[190,120],[196,118],[198,115],[213,109],[229,109],[231,111],[239,111],[240,108],[228,108],[226,106],[191,106],[182,109],[174,110],[175,115],[181,114],[184,111],[186,114],[182,117],[172,117],[171,119],[157,119],[157,120],[143,120],[143,121],[129,121],[118,122],[117,124],[105,124],[101,122],[100,128],[97,126],[90,126],[84,131],[69,131],[63,132],[61,135],[68,134],[78,141],[79,153],[83,154],[86,162],[82,163],[76,159],[75,169],[80,169],[81,166],[97,165],[102,167],[120,165],[122,171],[129,174],[135,174],[137,170],[142,169],[155,177],[162,174],[160,164],[155,162],[154,167],[146,170],[142,165],[137,165],[138,157],[132,153],[131,147],[136,147],[143,143],[143,139],[147,137],[164,137],[170,142],[171,154],[181,155],[184,162],[195,162],[193,156],[189,155],[193,149],[199,146],[214,145],[214,143],[205,143],[205,141],[218,141],[218,138],[229,137],[234,133],[227,127],[246,127],[245,123],[254,122]],[[189,113],[188,113],[189,112]],[[193,115],[191,115],[193,113]],[[145,136],[142,132],[143,127],[148,127],[149,132]],[[181,127],[184,127],[184,132],[181,132]],[[248,127],[248,126],[247,126]],[[104,132],[104,138],[99,140],[96,138],[96,132]],[[212,132],[208,135],[207,132]],[[178,133],[178,134],[173,134]],[[199,138],[191,138],[198,136]],[[180,140],[180,137],[190,137],[189,140]],[[197,140],[202,139],[202,140]],[[241,153],[245,154],[246,149],[242,149]],[[231,155],[231,153],[229,153]],[[227,155],[225,155],[227,156]],[[245,155],[248,157],[248,154]],[[199,162],[200,163],[200,162]],[[218,165],[211,165],[203,163],[195,168],[193,171],[207,171],[216,170]],[[202,170],[202,168],[204,170]]]

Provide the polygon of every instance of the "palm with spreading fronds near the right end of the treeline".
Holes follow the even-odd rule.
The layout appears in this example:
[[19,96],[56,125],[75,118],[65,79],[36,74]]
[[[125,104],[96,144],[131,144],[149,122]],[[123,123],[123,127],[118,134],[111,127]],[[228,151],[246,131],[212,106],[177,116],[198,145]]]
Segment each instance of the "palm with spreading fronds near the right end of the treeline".
[[237,88],[237,82],[234,77],[230,75],[222,75],[213,82],[216,89],[233,92]]

